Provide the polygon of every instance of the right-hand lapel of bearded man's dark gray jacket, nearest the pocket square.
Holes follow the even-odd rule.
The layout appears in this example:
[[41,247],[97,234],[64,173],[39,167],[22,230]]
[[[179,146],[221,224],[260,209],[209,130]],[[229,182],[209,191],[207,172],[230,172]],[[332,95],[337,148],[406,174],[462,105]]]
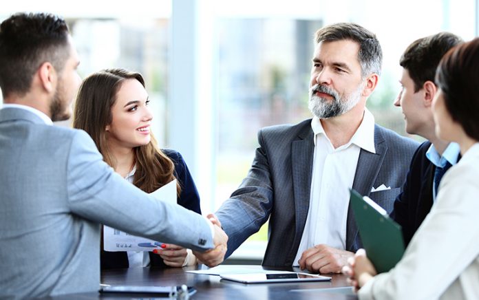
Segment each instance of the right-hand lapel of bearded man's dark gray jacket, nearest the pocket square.
[[[387,152],[387,144],[377,125],[374,125],[374,147],[376,148],[376,153],[363,149],[359,152],[352,189],[355,189],[361,195],[370,195],[372,185],[376,181]],[[356,219],[354,219],[354,213],[350,205],[348,207],[348,223],[346,225],[346,250],[352,250],[357,235]]]

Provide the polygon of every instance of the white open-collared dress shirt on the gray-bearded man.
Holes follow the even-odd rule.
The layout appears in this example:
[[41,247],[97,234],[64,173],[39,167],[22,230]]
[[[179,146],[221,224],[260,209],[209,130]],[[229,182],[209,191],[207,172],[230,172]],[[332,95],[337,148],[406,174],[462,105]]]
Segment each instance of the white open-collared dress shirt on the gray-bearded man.
[[349,189],[354,182],[359,151],[376,153],[374,116],[368,109],[351,140],[337,149],[326,136],[319,118],[312,119],[311,127],[315,134],[315,154],[310,206],[293,266],[299,266],[298,261],[305,250],[319,244],[345,249]]

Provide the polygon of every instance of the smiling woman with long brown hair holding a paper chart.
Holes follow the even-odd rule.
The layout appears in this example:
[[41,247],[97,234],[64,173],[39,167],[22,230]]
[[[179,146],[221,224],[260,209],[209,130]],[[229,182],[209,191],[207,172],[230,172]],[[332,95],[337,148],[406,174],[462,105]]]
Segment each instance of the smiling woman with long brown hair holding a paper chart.
[[[151,193],[177,179],[178,204],[201,214],[200,196],[182,156],[156,145],[150,131],[153,116],[148,103],[141,74],[106,69],[83,81],[76,98],[73,127],[87,131],[105,162],[142,191]],[[180,246],[163,244],[162,249],[153,252],[102,249],[101,268],[181,267],[196,263],[191,250]]]

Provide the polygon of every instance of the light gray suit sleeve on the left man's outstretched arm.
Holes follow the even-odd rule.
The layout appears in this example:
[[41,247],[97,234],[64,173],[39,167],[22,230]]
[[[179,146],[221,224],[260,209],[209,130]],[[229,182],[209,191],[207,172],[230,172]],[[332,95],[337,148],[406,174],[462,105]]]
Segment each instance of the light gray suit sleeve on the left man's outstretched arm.
[[72,213],[121,231],[193,250],[213,248],[211,229],[197,213],[157,201],[109,167],[85,131],[76,131],[67,163]]

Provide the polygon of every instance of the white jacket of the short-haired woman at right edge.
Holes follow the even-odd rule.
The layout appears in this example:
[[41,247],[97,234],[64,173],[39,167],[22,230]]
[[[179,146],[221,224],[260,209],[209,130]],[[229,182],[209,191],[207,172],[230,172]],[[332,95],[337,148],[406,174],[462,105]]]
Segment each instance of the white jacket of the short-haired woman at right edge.
[[359,299],[479,299],[479,143],[440,182],[436,204],[403,259]]

